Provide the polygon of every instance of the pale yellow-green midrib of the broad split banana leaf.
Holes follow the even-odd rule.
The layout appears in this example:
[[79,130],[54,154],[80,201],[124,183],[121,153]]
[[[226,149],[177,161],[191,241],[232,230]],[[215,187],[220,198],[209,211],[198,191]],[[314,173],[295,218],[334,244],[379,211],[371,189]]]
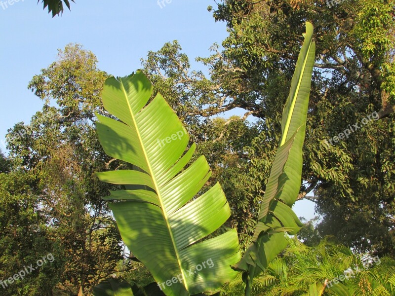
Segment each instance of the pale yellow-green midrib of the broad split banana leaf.
[[[176,258],[177,258],[178,265],[179,265],[179,267],[180,267],[180,271],[181,271],[181,273],[182,273],[183,278],[185,278],[185,273],[184,273],[184,270],[183,270],[182,265],[181,265],[180,255],[178,254],[177,245],[176,245],[175,240],[174,240],[173,232],[171,231],[171,226],[170,226],[170,223],[169,223],[169,219],[167,218],[167,213],[166,213],[166,210],[165,210],[165,208],[164,208],[164,204],[163,204],[163,202],[162,202],[162,198],[161,198],[161,196],[160,196],[159,187],[158,187],[157,181],[156,181],[156,179],[155,179],[154,172],[153,172],[153,170],[152,170],[152,168],[151,168],[151,163],[150,163],[150,161],[149,161],[146,148],[145,148],[144,143],[143,143],[143,140],[142,140],[142,138],[141,138],[140,131],[139,131],[139,129],[138,129],[138,125],[137,125],[135,116],[134,116],[133,111],[132,111],[132,109],[131,109],[131,106],[130,106],[130,103],[129,103],[129,100],[128,100],[128,97],[127,97],[126,90],[125,90],[125,88],[124,88],[124,86],[123,86],[123,82],[122,82],[121,79],[120,79],[119,81],[120,81],[120,85],[121,85],[121,87],[122,87],[122,91],[123,91],[123,94],[124,94],[124,98],[125,98],[125,100],[126,100],[126,104],[127,104],[128,108],[129,108],[130,116],[132,117],[133,124],[134,124],[134,126],[135,126],[135,128],[136,128],[137,136],[139,137],[139,142],[140,142],[141,148],[142,148],[142,150],[143,150],[144,157],[145,157],[146,162],[147,162],[147,165],[148,165],[148,169],[149,169],[149,172],[148,172],[148,173],[149,173],[149,175],[150,175],[151,178],[152,178],[152,181],[153,181],[154,186],[155,186],[154,189],[155,189],[155,191],[157,192],[157,195],[158,195],[158,201],[159,201],[159,204],[160,204],[160,208],[162,209],[161,212],[162,212],[162,215],[163,215],[163,219],[164,219],[164,221],[166,222],[166,227],[167,227],[167,229],[168,229],[168,231],[169,231],[169,234],[170,234],[170,239],[171,239],[171,242],[172,242],[173,247],[174,247],[174,252],[175,252],[175,255],[176,255]],[[185,285],[185,289],[186,289],[187,291],[189,291],[187,281],[184,281],[184,285]]]

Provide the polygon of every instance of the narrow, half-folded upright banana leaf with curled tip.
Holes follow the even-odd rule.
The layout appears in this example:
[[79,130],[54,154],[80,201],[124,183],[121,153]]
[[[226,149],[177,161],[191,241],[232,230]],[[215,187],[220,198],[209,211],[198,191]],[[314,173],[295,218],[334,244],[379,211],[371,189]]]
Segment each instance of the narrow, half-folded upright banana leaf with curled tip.
[[311,77],[315,60],[313,26],[306,23],[305,41],[292,78],[289,97],[282,113],[282,135],[266,193],[259,211],[259,220],[252,244],[235,266],[242,270],[246,283],[245,295],[250,295],[252,280],[266,269],[287,245],[284,232],[296,234],[302,223],[291,207],[301,185],[302,148],[305,139]]

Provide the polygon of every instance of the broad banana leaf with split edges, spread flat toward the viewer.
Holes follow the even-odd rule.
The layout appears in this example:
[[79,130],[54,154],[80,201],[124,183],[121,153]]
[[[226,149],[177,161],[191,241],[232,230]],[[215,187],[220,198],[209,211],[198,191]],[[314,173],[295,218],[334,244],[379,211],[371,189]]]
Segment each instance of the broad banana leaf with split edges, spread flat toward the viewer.
[[107,199],[133,255],[166,295],[193,295],[237,275],[230,267],[241,257],[237,232],[203,240],[230,217],[229,204],[219,184],[197,197],[210,168],[204,156],[187,167],[196,146],[186,151],[189,135],[160,94],[147,105],[152,91],[140,71],[106,80],[103,105],[120,121],[97,115],[99,140],[108,155],[132,169],[97,175],[125,185]]

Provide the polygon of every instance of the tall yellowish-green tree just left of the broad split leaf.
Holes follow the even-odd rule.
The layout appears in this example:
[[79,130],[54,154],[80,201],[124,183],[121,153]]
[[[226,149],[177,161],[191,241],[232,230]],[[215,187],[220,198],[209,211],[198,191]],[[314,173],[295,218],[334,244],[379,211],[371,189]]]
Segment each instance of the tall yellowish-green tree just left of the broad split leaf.
[[[94,112],[103,112],[100,91],[107,74],[81,46],[69,44],[59,59],[33,77],[29,88],[43,100],[29,125],[7,135],[15,166],[35,177],[46,221],[46,239],[59,246],[56,295],[89,294],[102,279],[130,265],[109,209],[100,199],[109,186],[96,171],[121,164],[106,156],[95,133]],[[53,105],[53,106],[51,106]]]

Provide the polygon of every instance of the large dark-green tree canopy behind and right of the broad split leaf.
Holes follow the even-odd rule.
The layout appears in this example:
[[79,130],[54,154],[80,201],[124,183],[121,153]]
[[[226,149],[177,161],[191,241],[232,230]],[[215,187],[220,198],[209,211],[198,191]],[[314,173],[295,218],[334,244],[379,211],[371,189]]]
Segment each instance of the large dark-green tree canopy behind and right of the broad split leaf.
[[[243,240],[254,229],[251,218],[265,191],[308,20],[316,29],[318,60],[299,198],[316,201],[322,235],[334,234],[360,251],[395,254],[394,7],[394,1],[378,0],[332,8],[311,0],[218,1],[209,10],[227,23],[229,37],[223,50],[214,45],[210,57],[197,58],[209,77],[190,70],[176,41],[143,60],[145,72],[186,124],[203,123],[198,147],[211,146],[210,166],[218,167]],[[205,118],[238,108],[244,115],[224,121],[221,140],[210,139],[213,125],[204,124]],[[375,111],[378,120],[327,144]],[[307,196],[312,190],[313,198]]]

